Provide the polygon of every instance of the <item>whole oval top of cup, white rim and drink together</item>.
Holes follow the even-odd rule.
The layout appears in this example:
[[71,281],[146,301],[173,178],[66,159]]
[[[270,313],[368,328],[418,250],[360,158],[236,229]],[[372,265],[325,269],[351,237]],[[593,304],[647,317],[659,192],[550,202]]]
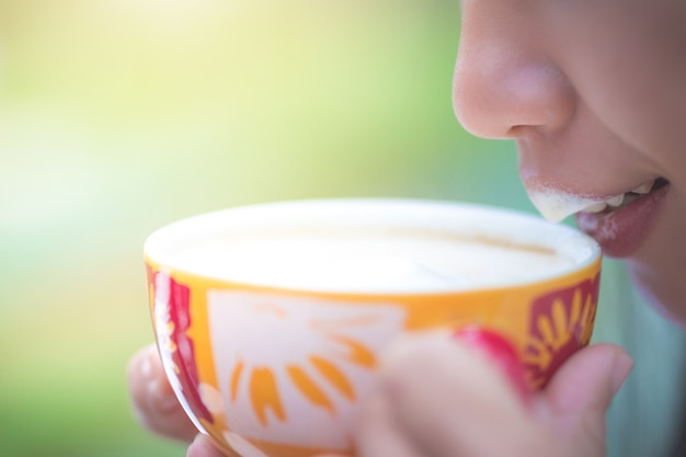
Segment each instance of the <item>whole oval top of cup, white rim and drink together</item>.
[[[504,250],[505,258],[489,260],[492,247]],[[525,264],[518,260],[521,250],[533,253]],[[235,283],[426,294],[545,281],[588,265],[601,249],[575,229],[502,208],[325,199],[244,206],[184,219],[152,233],[145,253],[171,271]],[[468,267],[455,266],[464,255]]]

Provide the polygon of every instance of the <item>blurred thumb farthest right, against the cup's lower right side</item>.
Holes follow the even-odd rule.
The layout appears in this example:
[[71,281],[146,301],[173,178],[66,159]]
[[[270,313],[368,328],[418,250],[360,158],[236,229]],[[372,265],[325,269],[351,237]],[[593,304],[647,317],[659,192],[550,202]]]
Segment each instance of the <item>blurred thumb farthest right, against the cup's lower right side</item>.
[[629,354],[614,344],[594,344],[574,354],[544,392],[559,432],[578,443],[604,446],[607,409],[632,367]]

